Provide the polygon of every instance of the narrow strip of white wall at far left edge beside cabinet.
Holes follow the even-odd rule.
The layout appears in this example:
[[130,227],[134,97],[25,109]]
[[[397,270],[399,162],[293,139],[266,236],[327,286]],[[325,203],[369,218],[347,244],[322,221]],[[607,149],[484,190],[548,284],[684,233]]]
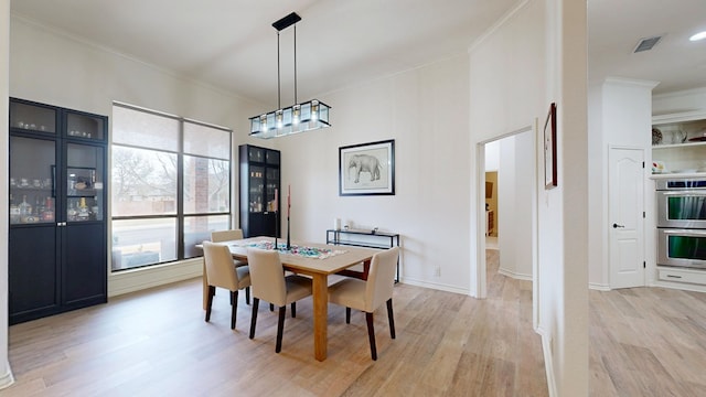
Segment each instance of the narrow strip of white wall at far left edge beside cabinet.
[[[0,208],[8,207],[8,147],[10,125],[8,109],[10,107],[10,0],[0,0]],[[7,214],[7,212],[6,212]],[[12,384],[12,372],[8,361],[8,216],[0,216],[0,389]]]

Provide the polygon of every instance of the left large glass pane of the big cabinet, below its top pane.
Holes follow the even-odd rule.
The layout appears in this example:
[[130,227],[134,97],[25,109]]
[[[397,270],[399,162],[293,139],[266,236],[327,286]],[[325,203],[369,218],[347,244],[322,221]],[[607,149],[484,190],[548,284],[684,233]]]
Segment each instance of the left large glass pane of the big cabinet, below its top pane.
[[10,224],[53,223],[56,147],[53,140],[10,137]]

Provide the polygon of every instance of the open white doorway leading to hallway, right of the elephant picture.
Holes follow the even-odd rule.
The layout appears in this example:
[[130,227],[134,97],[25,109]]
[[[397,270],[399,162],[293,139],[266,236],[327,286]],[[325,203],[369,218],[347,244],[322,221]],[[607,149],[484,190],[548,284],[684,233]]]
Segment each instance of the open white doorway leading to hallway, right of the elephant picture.
[[[490,182],[492,189],[490,191],[482,189],[482,192],[477,194],[479,203],[478,297],[486,297],[492,276],[494,276],[488,273],[485,249],[496,248],[499,273],[513,279],[532,281],[535,328],[538,319],[536,293],[538,141],[536,131],[537,128],[526,127],[479,144],[481,152],[478,155],[478,185],[491,187],[491,184],[488,184]],[[488,225],[490,211],[492,211],[492,226]]]

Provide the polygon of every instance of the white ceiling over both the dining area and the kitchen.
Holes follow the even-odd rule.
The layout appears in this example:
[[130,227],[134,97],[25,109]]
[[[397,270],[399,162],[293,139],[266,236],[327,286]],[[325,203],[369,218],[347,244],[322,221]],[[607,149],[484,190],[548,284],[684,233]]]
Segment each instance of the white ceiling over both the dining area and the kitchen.
[[[277,105],[276,20],[296,11],[298,101],[466,54],[521,0],[12,0],[13,15]],[[178,4],[175,7],[174,4]],[[706,86],[706,1],[588,0],[589,79]],[[641,37],[665,34],[649,52]],[[293,29],[280,34],[281,105],[295,101]]]

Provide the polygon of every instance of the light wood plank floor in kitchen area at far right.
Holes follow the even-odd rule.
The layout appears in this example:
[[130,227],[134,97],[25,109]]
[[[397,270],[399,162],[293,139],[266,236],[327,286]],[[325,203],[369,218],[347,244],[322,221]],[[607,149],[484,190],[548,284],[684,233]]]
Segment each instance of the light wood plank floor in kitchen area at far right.
[[589,292],[590,395],[706,396],[706,293]]

